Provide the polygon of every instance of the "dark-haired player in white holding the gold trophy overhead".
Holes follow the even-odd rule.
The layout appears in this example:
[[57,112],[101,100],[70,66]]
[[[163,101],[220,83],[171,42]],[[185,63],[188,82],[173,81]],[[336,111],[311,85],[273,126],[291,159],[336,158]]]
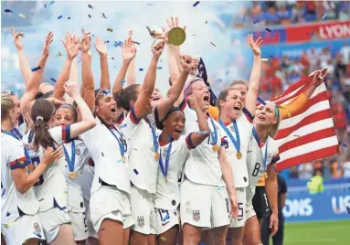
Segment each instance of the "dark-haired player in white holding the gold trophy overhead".
[[118,104],[128,112],[124,120],[125,133],[131,148],[129,154],[132,181],[132,210],[135,224],[131,232],[131,244],[155,244],[156,222],[154,194],[158,172],[159,143],[156,128],[150,122],[152,114],[151,96],[158,60],[163,52],[164,41],[155,43],[151,65],[144,77],[143,85],[133,84],[120,91]]

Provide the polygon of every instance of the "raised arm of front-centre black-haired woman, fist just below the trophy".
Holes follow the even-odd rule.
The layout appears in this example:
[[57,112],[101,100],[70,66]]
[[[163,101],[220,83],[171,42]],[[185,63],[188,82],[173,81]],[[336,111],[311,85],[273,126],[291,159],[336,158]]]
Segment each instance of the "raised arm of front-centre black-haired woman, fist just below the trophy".
[[169,91],[166,94],[166,98],[164,98],[164,100],[161,101],[157,106],[158,117],[161,122],[164,119],[167,112],[169,112],[169,110],[174,106],[175,101],[177,101],[179,96],[182,94],[185,82],[189,74],[189,70],[191,69],[191,64],[191,57],[181,57],[181,65],[183,67],[183,71],[181,72],[177,80],[174,82],[173,86],[170,87]]

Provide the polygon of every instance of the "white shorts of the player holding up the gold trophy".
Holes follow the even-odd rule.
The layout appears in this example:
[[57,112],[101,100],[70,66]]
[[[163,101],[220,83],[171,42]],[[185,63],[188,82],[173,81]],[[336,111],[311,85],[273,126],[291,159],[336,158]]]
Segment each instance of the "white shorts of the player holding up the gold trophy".
[[132,209],[135,220],[132,229],[146,235],[156,234],[153,194],[132,186]]

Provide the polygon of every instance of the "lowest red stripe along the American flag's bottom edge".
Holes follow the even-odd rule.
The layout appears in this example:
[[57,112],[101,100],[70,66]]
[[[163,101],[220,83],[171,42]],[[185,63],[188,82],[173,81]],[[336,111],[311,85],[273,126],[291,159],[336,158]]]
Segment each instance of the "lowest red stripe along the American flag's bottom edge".
[[276,165],[276,168],[278,171],[292,167],[294,165],[300,165],[301,163],[307,163],[316,159],[320,159],[326,156],[330,156],[332,154],[336,154],[338,150],[338,146],[330,146],[327,148],[323,148],[317,151],[313,151],[312,153],[309,154],[298,154],[290,159],[284,160],[279,162]]

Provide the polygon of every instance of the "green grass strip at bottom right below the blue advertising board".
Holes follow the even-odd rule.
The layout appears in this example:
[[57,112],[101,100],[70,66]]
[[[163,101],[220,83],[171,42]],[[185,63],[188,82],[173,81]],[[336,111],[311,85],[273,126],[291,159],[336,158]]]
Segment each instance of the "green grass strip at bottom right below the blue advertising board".
[[350,244],[350,215],[349,219],[345,220],[287,223],[284,227],[283,244],[348,245]]

